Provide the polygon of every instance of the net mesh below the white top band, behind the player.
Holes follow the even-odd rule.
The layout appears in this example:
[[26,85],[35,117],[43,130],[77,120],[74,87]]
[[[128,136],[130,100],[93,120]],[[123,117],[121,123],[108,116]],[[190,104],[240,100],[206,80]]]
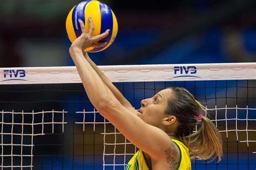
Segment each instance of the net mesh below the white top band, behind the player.
[[[192,169],[256,168],[256,81],[115,83],[134,108],[170,86],[207,108],[223,138],[220,162]],[[1,169],[125,169],[137,151],[91,105],[82,84],[0,85]]]

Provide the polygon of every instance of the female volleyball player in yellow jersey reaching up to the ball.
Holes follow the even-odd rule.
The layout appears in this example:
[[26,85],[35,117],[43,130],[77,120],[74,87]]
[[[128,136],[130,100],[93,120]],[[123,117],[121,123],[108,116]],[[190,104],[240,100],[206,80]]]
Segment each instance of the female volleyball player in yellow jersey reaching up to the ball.
[[[83,50],[101,47],[99,43],[109,30],[92,36],[93,23],[72,43],[69,52],[82,79],[91,103],[140,151],[128,162],[126,169],[191,169],[190,159],[221,159],[222,141],[218,129],[204,116],[205,109],[192,94],[180,87],[170,87],[141,101],[134,110],[111,81]],[[200,121],[201,120],[201,121]],[[196,125],[200,128],[193,133]]]

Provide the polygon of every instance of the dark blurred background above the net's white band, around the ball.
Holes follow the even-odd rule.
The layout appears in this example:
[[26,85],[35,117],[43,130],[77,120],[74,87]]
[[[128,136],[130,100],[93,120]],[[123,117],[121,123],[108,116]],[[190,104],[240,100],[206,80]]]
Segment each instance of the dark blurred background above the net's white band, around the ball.
[[[70,66],[65,20],[79,0],[1,0],[0,67]],[[98,65],[256,61],[255,0],[102,1],[118,21]]]

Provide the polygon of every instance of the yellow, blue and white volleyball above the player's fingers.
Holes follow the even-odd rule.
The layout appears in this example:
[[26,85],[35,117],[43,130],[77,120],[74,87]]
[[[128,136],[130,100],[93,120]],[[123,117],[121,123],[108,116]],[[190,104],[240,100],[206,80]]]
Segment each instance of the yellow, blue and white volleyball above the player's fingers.
[[85,51],[103,51],[114,42],[118,31],[117,18],[106,4],[99,1],[83,1],[74,6],[66,18],[66,32],[71,42],[74,42],[82,34],[78,19],[85,23],[86,32],[89,32],[89,16],[91,16],[95,28],[93,36],[100,35],[100,33],[105,32],[107,29],[110,31],[107,37],[100,40],[100,42],[107,42],[105,46],[89,47]]

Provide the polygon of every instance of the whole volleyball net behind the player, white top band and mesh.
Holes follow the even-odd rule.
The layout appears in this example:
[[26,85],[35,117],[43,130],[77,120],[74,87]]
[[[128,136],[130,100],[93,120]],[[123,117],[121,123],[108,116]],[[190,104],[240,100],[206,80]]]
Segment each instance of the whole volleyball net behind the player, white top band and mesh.
[[[256,63],[99,67],[136,109],[170,86],[206,107],[224,158],[192,169],[256,168]],[[75,67],[0,69],[0,135],[1,169],[125,169],[137,151],[91,105]]]

